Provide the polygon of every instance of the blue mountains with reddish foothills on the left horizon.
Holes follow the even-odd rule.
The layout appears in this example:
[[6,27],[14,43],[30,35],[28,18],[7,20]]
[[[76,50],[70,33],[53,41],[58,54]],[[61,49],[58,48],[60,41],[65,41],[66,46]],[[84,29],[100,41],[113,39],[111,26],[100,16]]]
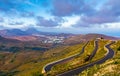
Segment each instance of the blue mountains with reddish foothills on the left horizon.
[[0,30],[0,36],[10,39],[16,39],[20,41],[42,41],[47,39],[48,36],[63,36],[68,38],[69,36],[73,36],[73,34],[66,33],[53,33],[53,32],[41,32],[34,28],[29,28],[25,31],[20,29],[6,29]]

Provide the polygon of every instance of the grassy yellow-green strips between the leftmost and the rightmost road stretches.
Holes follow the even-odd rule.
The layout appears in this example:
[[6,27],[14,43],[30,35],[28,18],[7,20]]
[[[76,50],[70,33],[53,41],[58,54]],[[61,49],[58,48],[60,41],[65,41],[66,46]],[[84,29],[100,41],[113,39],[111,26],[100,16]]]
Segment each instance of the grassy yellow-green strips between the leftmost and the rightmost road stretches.
[[55,75],[55,74],[65,72],[67,70],[79,67],[79,66],[83,66],[83,65],[88,64],[92,61],[96,61],[96,60],[102,58],[106,53],[106,50],[104,50],[104,45],[107,42],[108,41],[106,41],[106,40],[100,40],[99,41],[99,49],[96,52],[96,55],[93,57],[92,60],[89,60],[89,57],[94,50],[94,41],[90,41],[88,43],[88,45],[86,46],[85,51],[82,55],[77,56],[77,57],[75,57],[72,60],[69,60],[67,62],[55,65],[48,74]]

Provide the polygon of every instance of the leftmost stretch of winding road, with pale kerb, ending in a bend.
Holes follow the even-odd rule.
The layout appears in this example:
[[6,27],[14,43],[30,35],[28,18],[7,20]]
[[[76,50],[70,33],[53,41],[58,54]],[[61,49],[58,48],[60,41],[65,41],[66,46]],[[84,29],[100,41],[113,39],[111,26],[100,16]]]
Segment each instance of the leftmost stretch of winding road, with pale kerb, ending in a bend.
[[82,48],[82,50],[81,50],[81,52],[80,52],[79,54],[75,54],[75,55],[73,55],[73,56],[70,56],[70,57],[67,57],[67,58],[64,58],[64,59],[60,59],[60,60],[58,60],[58,61],[54,61],[54,62],[48,63],[47,65],[45,65],[45,66],[43,67],[42,73],[46,73],[46,72],[50,71],[51,68],[52,68],[54,65],[56,65],[56,64],[63,63],[63,62],[65,62],[65,61],[68,61],[68,60],[76,57],[76,56],[79,56],[79,55],[83,54],[83,53],[84,53],[84,49],[85,49],[85,47],[87,46],[88,43],[89,43],[89,41],[87,41],[87,43],[83,46],[83,48]]

